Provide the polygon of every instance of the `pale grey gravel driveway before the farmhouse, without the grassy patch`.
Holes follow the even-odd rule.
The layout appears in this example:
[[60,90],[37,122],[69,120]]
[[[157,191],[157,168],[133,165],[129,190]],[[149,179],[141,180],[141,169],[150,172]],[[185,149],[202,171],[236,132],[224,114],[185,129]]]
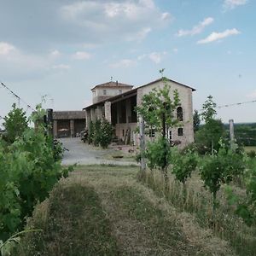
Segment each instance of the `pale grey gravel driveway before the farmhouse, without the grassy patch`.
[[59,141],[65,148],[62,165],[116,165],[116,166],[131,166],[136,165],[136,162],[122,160],[106,160],[104,156],[113,153],[114,149],[95,148],[87,143],[83,143],[79,137],[61,138]]

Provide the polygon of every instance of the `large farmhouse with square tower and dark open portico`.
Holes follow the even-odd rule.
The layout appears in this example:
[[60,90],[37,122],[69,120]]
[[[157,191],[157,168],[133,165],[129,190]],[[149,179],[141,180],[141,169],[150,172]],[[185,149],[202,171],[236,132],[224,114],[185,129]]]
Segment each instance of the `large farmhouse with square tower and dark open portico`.
[[[172,142],[180,142],[183,147],[194,141],[192,92],[195,89],[171,79],[167,79],[166,83],[171,85],[171,98],[172,91],[178,91],[181,106],[177,108],[177,117],[183,121],[183,127],[172,128],[171,131],[168,131],[168,138]],[[135,108],[142,102],[143,95],[148,94],[154,88],[163,87],[162,79],[157,79],[135,89],[131,84],[119,82],[96,85],[91,89],[93,104],[83,108],[86,116],[86,127],[89,128],[90,121],[105,118],[112,123],[115,136],[118,139],[125,143],[138,145],[139,138],[136,132],[138,119]],[[154,137],[154,132],[148,137]]]

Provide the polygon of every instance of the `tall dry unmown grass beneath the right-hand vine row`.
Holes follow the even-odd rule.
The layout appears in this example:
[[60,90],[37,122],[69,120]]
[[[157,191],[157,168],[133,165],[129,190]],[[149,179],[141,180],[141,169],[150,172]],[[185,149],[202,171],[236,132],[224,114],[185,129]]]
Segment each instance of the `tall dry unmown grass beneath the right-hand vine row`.
[[[256,227],[248,227],[241,218],[236,217],[232,207],[225,199],[224,189],[218,192],[218,208],[212,212],[212,195],[204,187],[198,173],[194,173],[185,184],[179,183],[172,174],[169,174],[167,188],[160,171],[147,171],[142,178],[154,192],[166,198],[181,212],[195,215],[198,223],[210,228],[230,245],[239,255],[256,255]],[[244,191],[237,189],[241,196]]]

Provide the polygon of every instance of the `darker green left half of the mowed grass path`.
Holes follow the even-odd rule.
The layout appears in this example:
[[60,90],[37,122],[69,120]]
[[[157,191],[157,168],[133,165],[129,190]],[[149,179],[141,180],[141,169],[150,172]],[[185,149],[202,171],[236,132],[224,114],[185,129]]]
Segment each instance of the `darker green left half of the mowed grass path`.
[[36,215],[31,223],[43,235],[27,235],[19,255],[119,255],[101,201],[90,186],[61,183],[45,207],[46,216]]

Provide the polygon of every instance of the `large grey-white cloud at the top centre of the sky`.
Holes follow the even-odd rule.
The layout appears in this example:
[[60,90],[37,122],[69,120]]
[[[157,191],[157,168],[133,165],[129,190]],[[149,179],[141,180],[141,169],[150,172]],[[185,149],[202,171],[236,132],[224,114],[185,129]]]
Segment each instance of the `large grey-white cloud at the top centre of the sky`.
[[172,20],[153,0],[80,1],[62,6],[60,15],[67,26],[75,26],[87,35],[86,43],[113,38],[140,41]]

